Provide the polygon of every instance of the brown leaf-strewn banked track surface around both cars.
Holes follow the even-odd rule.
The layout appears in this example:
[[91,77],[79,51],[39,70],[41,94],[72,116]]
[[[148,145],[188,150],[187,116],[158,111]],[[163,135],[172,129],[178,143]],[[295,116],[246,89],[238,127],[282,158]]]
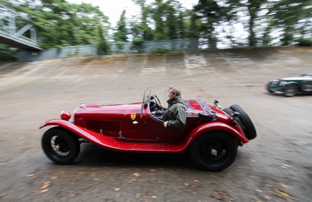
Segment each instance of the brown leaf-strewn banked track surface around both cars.
[[[312,95],[269,93],[269,79],[312,73],[312,48],[222,49],[0,63],[0,201],[308,202]],[[185,154],[112,152],[84,144],[73,165],[43,153],[45,121],[86,104],[131,103],[176,85],[186,98],[239,104],[257,137],[233,165],[204,172]]]

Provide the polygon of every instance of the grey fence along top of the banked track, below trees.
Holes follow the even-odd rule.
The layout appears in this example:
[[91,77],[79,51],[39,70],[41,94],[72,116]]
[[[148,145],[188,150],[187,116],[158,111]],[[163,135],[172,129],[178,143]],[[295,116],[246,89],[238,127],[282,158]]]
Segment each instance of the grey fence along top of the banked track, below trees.
[[[127,42],[124,44],[123,49],[119,50],[116,44],[111,45],[110,51],[112,53],[135,53],[136,50],[132,50],[132,43]],[[178,50],[197,50],[198,39],[172,39],[172,40],[160,40],[160,41],[145,41],[144,52],[151,52],[157,48],[164,48],[169,51]],[[73,55],[98,55],[98,47],[95,45],[85,46],[66,46],[60,49],[52,48],[39,52],[19,51],[17,53],[18,61],[39,61],[54,58],[65,58]]]

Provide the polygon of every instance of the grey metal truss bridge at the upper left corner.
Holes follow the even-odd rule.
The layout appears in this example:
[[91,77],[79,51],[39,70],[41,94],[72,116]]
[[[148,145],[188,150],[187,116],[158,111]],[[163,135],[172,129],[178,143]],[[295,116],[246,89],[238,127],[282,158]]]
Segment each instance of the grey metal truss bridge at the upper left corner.
[[37,45],[36,26],[3,4],[0,4],[0,43],[28,51],[43,50]]

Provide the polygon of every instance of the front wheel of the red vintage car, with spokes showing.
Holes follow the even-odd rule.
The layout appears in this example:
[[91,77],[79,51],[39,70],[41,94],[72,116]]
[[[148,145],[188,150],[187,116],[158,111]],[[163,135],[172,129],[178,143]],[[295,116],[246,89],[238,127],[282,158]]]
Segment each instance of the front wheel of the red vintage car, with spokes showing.
[[48,129],[41,139],[44,153],[57,164],[71,164],[78,156],[78,138],[61,127]]

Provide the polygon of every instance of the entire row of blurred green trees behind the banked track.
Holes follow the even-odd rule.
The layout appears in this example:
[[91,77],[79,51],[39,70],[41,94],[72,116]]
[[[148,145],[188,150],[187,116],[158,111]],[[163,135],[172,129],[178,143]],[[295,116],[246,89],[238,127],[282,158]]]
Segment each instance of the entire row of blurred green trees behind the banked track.
[[[273,42],[274,45],[309,45],[312,37],[312,0],[198,0],[190,10],[177,0],[133,2],[140,7],[140,15],[127,20],[123,10],[110,36],[112,28],[108,17],[91,4],[72,4],[65,0],[1,0],[37,26],[39,46],[45,49],[92,44],[98,46],[100,54],[107,54],[110,39],[122,50],[128,37],[133,38],[132,49],[137,51],[144,49],[142,41],[147,40],[201,38],[203,45],[216,48],[223,40],[232,47],[272,45]],[[16,18],[19,28],[25,23],[22,21]],[[243,24],[248,36],[237,37],[233,29],[237,23]],[[282,34],[276,36],[276,33]],[[5,50],[5,55],[12,54]]]

